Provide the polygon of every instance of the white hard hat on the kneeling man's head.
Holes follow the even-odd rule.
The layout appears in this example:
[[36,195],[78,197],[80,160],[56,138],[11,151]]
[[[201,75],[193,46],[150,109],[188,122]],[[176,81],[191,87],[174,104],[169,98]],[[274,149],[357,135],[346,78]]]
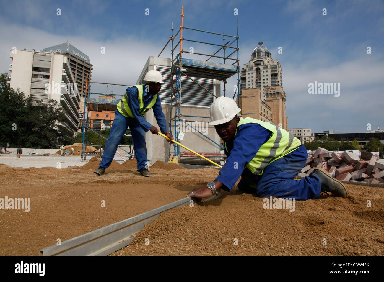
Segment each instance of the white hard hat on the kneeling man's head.
[[230,97],[218,97],[209,109],[209,125],[225,124],[240,112],[236,102]]

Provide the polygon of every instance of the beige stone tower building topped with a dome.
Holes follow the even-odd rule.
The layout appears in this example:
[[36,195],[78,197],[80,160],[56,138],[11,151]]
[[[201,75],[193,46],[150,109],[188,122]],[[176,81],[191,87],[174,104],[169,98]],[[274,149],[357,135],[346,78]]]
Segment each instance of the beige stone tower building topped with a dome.
[[277,59],[272,59],[262,42],[253,49],[250,61],[241,69],[240,81],[241,95],[237,99],[242,116],[288,129],[281,65]]

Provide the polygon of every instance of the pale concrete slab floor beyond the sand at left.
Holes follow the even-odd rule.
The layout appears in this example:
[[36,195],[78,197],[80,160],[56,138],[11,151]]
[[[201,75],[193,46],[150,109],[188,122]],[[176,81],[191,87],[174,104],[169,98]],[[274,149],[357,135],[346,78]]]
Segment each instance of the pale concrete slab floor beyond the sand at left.
[[[72,167],[77,165],[79,167],[88,163],[88,161],[94,156],[88,156],[85,162],[80,162],[80,156],[21,156],[20,158],[16,158],[15,155],[12,156],[0,156],[0,163],[8,165],[10,167],[57,167],[57,162],[60,162],[61,168]],[[123,160],[119,157],[114,157],[116,162],[123,163]],[[127,160],[127,158],[126,158]]]

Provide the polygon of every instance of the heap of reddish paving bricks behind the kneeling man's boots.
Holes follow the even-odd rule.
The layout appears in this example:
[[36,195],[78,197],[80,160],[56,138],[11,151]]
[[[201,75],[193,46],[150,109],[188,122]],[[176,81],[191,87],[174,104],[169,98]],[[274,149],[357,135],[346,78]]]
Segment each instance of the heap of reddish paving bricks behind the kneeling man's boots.
[[319,147],[313,155],[308,155],[308,160],[299,176],[309,175],[315,167],[322,167],[338,180],[384,183],[384,165],[377,160],[378,155],[372,155],[370,160],[362,160],[351,151],[336,153]]

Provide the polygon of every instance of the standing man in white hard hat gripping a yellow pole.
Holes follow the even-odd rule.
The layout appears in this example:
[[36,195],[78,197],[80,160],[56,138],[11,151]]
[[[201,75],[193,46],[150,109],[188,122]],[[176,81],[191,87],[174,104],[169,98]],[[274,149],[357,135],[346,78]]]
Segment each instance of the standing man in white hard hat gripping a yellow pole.
[[[144,114],[151,108],[153,108],[153,114],[162,134],[173,140],[161,109],[160,97],[157,95],[163,83],[161,73],[148,71],[143,80],[147,83],[128,87],[117,105],[109,138],[105,144],[103,159],[99,168],[94,170],[97,175],[103,175],[105,169],[111,165],[118,145],[129,127],[137,160],[137,171],[142,176],[152,176],[148,171],[145,133],[150,130],[152,134],[158,134],[159,130],[144,118]],[[170,140],[167,141],[172,143]]]

